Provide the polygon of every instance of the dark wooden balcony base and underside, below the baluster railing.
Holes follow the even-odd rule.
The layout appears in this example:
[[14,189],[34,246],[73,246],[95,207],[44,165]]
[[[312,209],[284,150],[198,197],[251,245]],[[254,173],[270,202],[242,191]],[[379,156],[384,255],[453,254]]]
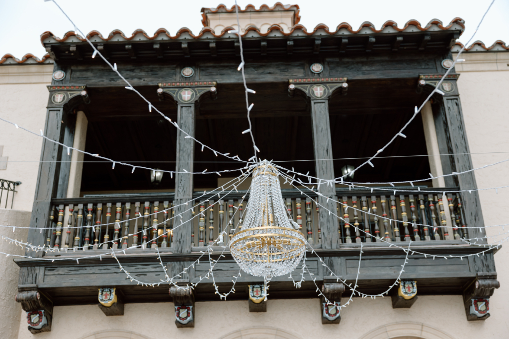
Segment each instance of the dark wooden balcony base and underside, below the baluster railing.
[[[460,258],[435,258],[433,255],[458,256],[475,254],[482,249],[459,244],[461,241],[447,241],[442,245],[430,245],[425,241],[420,244],[412,243],[411,249],[426,253],[427,257],[418,254],[410,254],[408,263],[405,265],[402,279],[416,280],[419,295],[461,295],[468,284],[476,277],[479,266],[490,266],[493,263],[493,252],[487,252],[484,256],[470,256]],[[408,243],[399,242],[401,246]],[[347,284],[354,283],[359,265],[359,246],[357,244],[343,245],[338,250],[316,250],[322,258],[329,258],[337,275],[347,280]],[[163,252],[164,251],[164,252]],[[171,249],[161,249],[161,260],[168,267],[168,274],[174,263],[181,262],[185,266],[195,261],[201,253],[173,254]],[[401,249],[390,247],[386,244],[366,244],[363,246],[362,260],[360,262],[360,274],[358,276],[358,290],[367,294],[378,294],[385,291],[395,279],[405,261],[405,253]],[[118,263],[111,255],[111,251],[87,251],[87,254],[104,253],[100,258],[80,259],[79,264],[74,261],[40,261],[35,259],[16,259],[20,267],[39,269],[38,288],[47,293],[53,300],[54,305],[75,305],[97,303],[97,291],[101,287],[117,287],[124,294],[124,301],[132,302],[171,302],[168,295],[168,284],[164,283],[155,287],[138,286],[131,282],[126,274],[119,268]],[[45,258],[83,257],[80,253],[66,255],[46,255]],[[314,275],[305,274],[305,282],[300,289],[293,286],[288,275],[279,276],[270,282],[270,298],[316,298],[318,293],[312,282],[317,278],[318,286],[323,283],[323,278],[330,276],[330,271],[322,266],[319,259],[310,253],[306,254],[306,265]],[[56,259],[55,258],[55,259]],[[156,283],[165,280],[165,275],[157,254],[153,250],[132,252],[131,254],[118,255],[122,266],[139,281]],[[219,253],[214,252],[212,258],[218,259]],[[183,262],[183,263],[182,263]],[[330,264],[329,264],[330,265]],[[183,266],[183,267],[185,267]],[[209,261],[204,257],[200,264],[189,269],[189,278],[195,283],[200,276],[205,276],[209,270]],[[225,258],[220,258],[214,267],[214,278],[221,293],[228,292],[233,285],[233,276],[239,272],[239,266],[235,263],[230,253],[225,252]],[[295,281],[300,280],[302,272],[301,264],[292,272]],[[235,294],[230,294],[229,300],[247,300],[247,285],[263,283],[263,279],[242,272],[235,285]],[[22,279],[20,280],[20,284]],[[353,284],[352,284],[353,285]],[[347,290],[346,295],[350,292]],[[390,293],[389,293],[390,295]],[[204,280],[196,286],[194,291],[195,301],[218,300],[214,294],[212,280]]]

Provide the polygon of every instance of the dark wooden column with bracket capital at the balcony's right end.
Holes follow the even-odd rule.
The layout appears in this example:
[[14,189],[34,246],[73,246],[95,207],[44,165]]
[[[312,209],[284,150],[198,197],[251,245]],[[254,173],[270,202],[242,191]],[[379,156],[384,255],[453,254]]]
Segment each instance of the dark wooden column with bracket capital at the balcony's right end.
[[[427,84],[435,86],[438,80],[432,80],[431,77],[432,75],[420,76]],[[445,95],[437,94],[433,98],[433,116],[440,153],[454,154],[440,157],[444,174],[463,172],[473,168],[458,92],[458,77],[459,74],[449,75],[439,88]],[[458,186],[461,190],[477,188],[474,172],[452,175],[444,179],[446,186]],[[483,227],[483,212],[477,191],[462,193],[461,198],[465,211],[465,224],[468,227]],[[469,238],[482,238],[485,235],[484,228],[470,228],[468,230]],[[486,239],[479,239],[478,242],[487,243]]]

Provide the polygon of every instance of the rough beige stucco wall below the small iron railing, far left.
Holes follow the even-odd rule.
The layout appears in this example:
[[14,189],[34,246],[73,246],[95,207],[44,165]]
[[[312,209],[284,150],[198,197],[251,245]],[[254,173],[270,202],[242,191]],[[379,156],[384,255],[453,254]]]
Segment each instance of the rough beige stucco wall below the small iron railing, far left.
[[[0,225],[29,226],[30,211],[0,208]],[[0,227],[0,238],[26,240],[26,229]],[[15,338],[18,336],[20,324],[21,305],[14,300],[18,287],[19,267],[13,261],[14,257],[7,257],[4,253],[23,255],[20,246],[0,240],[0,338]]]

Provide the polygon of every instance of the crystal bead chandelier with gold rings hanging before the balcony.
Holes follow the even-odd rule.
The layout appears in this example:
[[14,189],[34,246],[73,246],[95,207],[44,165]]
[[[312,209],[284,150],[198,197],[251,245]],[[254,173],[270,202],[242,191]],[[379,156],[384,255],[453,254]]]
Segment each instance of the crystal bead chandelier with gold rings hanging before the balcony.
[[292,272],[306,246],[288,217],[278,176],[266,160],[254,168],[244,224],[230,243],[240,268],[267,280]]

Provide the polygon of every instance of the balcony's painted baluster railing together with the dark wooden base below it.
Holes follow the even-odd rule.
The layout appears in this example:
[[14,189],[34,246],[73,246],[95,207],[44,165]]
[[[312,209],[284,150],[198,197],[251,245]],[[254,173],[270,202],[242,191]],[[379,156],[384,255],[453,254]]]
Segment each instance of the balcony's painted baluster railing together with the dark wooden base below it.
[[[427,256],[409,255],[402,279],[418,281],[419,295],[462,294],[465,286],[476,278],[479,267],[492,267],[491,271],[495,271],[493,252],[465,259],[433,258],[433,255],[457,256],[479,252],[477,246],[469,245],[463,239],[471,237],[465,227],[480,225],[466,225],[464,222],[465,214],[469,212],[468,206],[462,206],[461,195],[447,193],[456,188],[419,190],[415,195],[393,196],[392,191],[385,189],[374,189],[373,193],[371,190],[337,189],[338,200],[349,206],[345,211],[344,205],[337,204],[338,215],[343,218],[337,230],[340,233],[338,249],[322,249],[321,240],[327,234],[321,232],[318,218],[320,211],[311,199],[313,195],[306,198],[297,190],[282,190],[282,195],[293,219],[301,225],[301,231],[307,234],[315,253],[325,258],[343,279],[355,280],[362,243],[358,285],[363,293],[381,293],[398,278],[406,256],[401,248],[408,248],[412,240],[411,249],[426,253]],[[446,192],[448,201],[442,202],[439,196],[427,191]],[[96,303],[97,289],[101,287],[121,290],[125,302],[161,302],[172,300],[168,295],[168,285],[154,288],[136,285],[119,269],[111,252],[118,252],[120,263],[135,279],[157,284],[165,279],[165,274],[155,246],[163,266],[168,269],[168,275],[174,276],[191,265],[202,255],[205,246],[211,244],[214,250],[211,257],[219,260],[214,268],[215,281],[220,291],[227,292],[232,286],[232,276],[239,272],[239,267],[229,254],[226,235],[233,235],[234,228],[241,225],[240,217],[245,211],[248,195],[241,191],[228,195],[226,193],[221,201],[213,200],[217,194],[193,194],[195,200],[192,204],[195,205],[191,206],[190,203],[193,209],[190,253],[174,251],[172,230],[174,225],[180,224],[180,219],[171,219],[173,209],[168,209],[173,203],[173,193],[53,199],[53,214],[49,223],[51,230],[47,232],[44,243],[38,245],[44,244],[51,249],[44,254],[44,259],[59,260],[15,261],[20,267],[30,268],[27,272],[39,269],[38,289],[47,293],[54,305]],[[168,209],[168,213],[165,213],[165,209]],[[383,218],[384,215],[401,223],[389,222]],[[447,228],[412,226],[417,224],[442,225]],[[224,243],[212,243],[221,232],[225,232]],[[223,249],[224,258],[220,256]],[[317,281],[323,283],[328,272],[311,249],[308,249],[306,256],[308,268],[315,274]],[[90,258],[75,260],[83,257]],[[70,260],[60,260],[64,258]],[[195,283],[209,269],[208,256],[205,256],[199,264],[182,274],[181,278]],[[300,279],[300,273],[298,268],[292,273],[295,280]],[[317,297],[312,278],[307,273],[305,276],[306,282],[301,289],[296,289],[288,276],[274,278],[271,282],[271,297]],[[246,286],[260,282],[263,282],[260,278],[242,274],[237,280],[237,293],[229,298],[247,300]],[[205,280],[197,285],[194,297],[196,301],[216,300],[211,281]]]

